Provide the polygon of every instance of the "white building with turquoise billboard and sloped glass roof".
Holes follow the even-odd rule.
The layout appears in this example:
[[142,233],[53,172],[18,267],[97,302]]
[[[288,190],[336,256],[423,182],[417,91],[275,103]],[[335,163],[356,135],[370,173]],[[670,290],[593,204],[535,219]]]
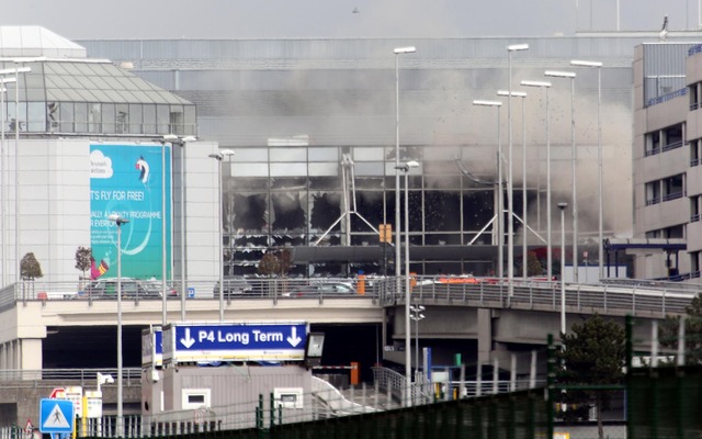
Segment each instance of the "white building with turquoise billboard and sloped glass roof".
[[[217,146],[178,146],[197,134],[195,105],[111,60],[88,57],[83,47],[45,29],[0,31],[3,288],[35,278],[76,293],[79,278],[91,270],[116,277],[113,213],[128,221],[124,277],[162,279],[166,249],[167,279],[184,267],[193,279],[213,281],[218,181],[208,154]],[[165,140],[167,134],[174,139]],[[180,234],[182,203],[190,215],[197,212],[186,235]],[[183,237],[190,258],[181,266]],[[91,270],[76,268],[79,247],[92,248]],[[42,277],[22,271],[30,254]]]

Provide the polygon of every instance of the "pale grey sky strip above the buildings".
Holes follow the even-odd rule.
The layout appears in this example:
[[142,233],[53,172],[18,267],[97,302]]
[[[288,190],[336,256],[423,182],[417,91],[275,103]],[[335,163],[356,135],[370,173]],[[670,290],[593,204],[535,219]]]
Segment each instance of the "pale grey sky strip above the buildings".
[[[0,0],[69,40],[574,35],[698,29],[702,0]],[[618,23],[619,5],[619,23]]]

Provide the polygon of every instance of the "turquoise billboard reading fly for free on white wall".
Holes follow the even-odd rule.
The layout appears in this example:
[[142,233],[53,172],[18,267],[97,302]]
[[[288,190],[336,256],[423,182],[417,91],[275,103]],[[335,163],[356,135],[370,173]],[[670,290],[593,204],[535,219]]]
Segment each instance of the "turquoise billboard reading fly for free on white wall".
[[170,145],[90,145],[92,279],[117,275],[117,230],[111,214],[128,221],[122,225],[122,275],[162,279],[166,230],[166,277],[170,279],[171,212]]

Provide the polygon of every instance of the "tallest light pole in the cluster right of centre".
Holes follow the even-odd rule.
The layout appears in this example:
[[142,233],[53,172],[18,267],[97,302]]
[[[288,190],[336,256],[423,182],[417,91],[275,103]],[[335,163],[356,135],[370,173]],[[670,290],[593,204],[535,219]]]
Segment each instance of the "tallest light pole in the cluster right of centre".
[[514,193],[512,183],[512,52],[528,50],[529,44],[512,44],[507,46],[507,66],[508,66],[508,83],[507,83],[507,119],[508,119],[508,132],[509,132],[509,162],[508,177],[507,177],[507,210],[509,211],[507,217],[507,278],[508,278],[508,296],[511,301],[514,294]]

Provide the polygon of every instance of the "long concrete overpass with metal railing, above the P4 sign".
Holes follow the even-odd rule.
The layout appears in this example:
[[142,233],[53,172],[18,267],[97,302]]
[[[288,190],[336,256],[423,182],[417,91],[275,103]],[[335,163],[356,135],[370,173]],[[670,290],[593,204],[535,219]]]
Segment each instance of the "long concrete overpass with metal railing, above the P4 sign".
[[[377,344],[385,360],[404,363],[405,293],[395,291],[395,281],[366,281],[365,294],[286,296],[307,280],[262,282],[249,294],[223,302],[226,322],[304,320],[310,325],[359,325],[382,327]],[[46,293],[56,285],[19,285],[0,292],[0,370],[114,367],[114,363],[78,361],[80,358],[110,359],[116,350],[116,301],[90,300],[77,294]],[[212,291],[212,290],[210,290]],[[684,314],[695,295],[675,284],[566,284],[567,325],[591,314],[623,318],[631,314],[645,319]],[[557,335],[561,323],[561,284],[516,281],[513,295],[506,284],[494,280],[442,283],[420,279],[412,288],[411,302],[422,304],[427,318],[421,323],[422,345],[431,340],[477,342],[476,361],[488,361],[494,351],[510,346],[542,346],[547,334]],[[179,297],[168,301],[123,300],[122,322],[126,350],[125,365],[138,367],[140,331],[162,323],[180,322],[185,304],[188,322],[218,322],[219,301]],[[401,316],[401,318],[398,318]],[[410,328],[411,330],[411,328]],[[642,339],[649,338],[643,330]],[[426,340],[426,342],[424,342]],[[370,364],[369,364],[370,365]]]

